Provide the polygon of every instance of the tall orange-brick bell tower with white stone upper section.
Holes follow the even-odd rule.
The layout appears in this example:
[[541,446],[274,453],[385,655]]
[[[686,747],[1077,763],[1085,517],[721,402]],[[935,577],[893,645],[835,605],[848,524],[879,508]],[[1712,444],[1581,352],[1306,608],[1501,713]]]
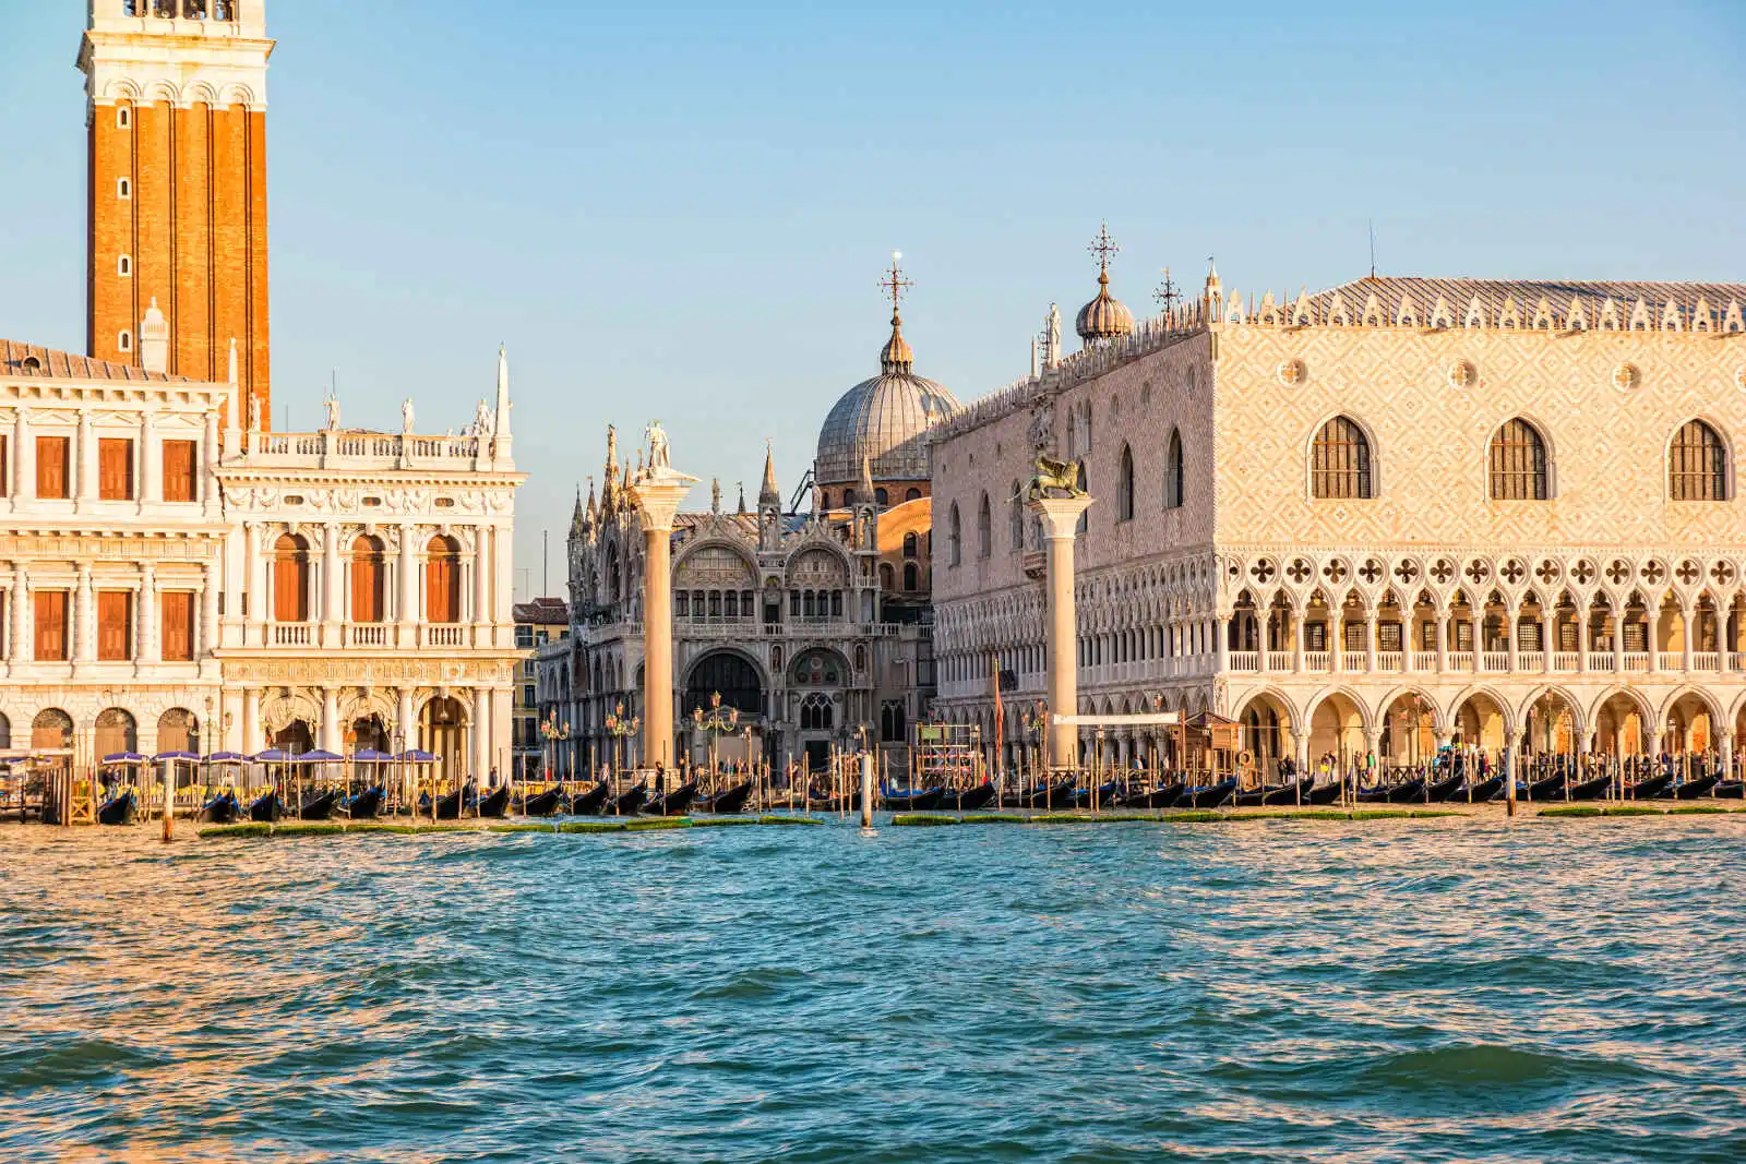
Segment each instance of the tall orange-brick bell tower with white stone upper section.
[[[237,380],[271,417],[267,0],[89,0],[87,353]],[[169,330],[141,347],[157,302]],[[154,318],[155,325],[155,318]],[[244,396],[246,400],[246,396]],[[234,424],[246,424],[237,401]]]

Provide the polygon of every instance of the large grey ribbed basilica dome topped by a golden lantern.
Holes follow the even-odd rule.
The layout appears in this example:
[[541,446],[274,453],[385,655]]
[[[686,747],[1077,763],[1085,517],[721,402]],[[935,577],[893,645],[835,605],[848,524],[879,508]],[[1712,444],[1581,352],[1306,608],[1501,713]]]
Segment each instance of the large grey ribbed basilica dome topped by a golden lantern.
[[876,482],[927,480],[927,429],[962,408],[945,387],[915,375],[915,353],[897,314],[878,363],[880,373],[843,393],[819,429],[812,469],[821,485],[859,482],[863,457]]

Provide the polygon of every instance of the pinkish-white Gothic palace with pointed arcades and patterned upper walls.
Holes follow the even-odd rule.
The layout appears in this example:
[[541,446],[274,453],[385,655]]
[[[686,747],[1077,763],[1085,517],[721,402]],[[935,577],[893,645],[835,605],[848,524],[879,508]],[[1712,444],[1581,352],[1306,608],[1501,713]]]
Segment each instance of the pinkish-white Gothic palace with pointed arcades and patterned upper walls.
[[936,438],[941,705],[992,721],[995,670],[1009,703],[1042,696],[1041,544],[1011,499],[1048,452],[1095,497],[1081,712],[1222,714],[1261,763],[1730,757],[1743,302],[1746,284],[1374,276],[1245,298],[1210,272],[1135,326],[1105,284],[1081,353],[1046,344]]

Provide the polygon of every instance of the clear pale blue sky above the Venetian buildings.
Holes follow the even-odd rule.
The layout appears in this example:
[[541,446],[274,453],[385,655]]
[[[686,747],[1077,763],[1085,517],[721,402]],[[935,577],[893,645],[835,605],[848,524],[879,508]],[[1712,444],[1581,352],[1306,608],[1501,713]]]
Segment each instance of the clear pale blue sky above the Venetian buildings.
[[[244,3],[260,0],[243,0]],[[1049,302],[1385,274],[1746,279],[1746,0],[267,0],[274,421],[461,428],[510,346],[522,585],[602,431],[784,492],[878,370],[1023,375]],[[0,0],[0,335],[82,349],[86,5]],[[707,490],[693,504],[707,503]]]

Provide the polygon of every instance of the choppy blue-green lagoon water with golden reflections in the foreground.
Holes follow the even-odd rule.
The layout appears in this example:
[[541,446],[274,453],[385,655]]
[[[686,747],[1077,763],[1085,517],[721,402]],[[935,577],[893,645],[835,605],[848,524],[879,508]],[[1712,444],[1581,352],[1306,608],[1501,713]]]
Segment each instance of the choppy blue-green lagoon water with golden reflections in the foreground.
[[1746,1159],[1743,825],[0,827],[0,1159]]

